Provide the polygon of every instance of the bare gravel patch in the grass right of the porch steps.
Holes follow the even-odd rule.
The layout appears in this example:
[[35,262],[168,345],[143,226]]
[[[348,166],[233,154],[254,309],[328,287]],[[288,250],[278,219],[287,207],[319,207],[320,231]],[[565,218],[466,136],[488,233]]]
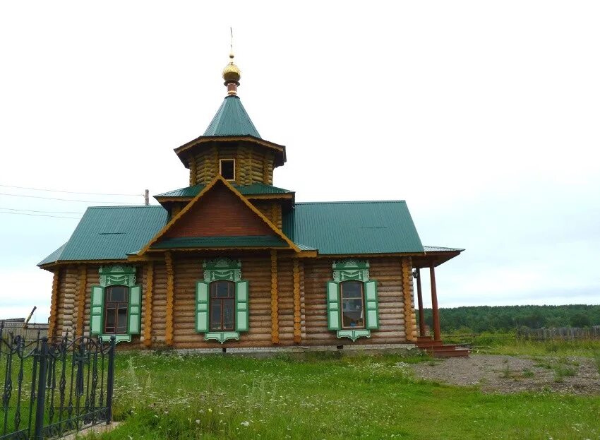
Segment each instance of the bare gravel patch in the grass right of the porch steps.
[[416,377],[486,393],[557,391],[600,395],[600,374],[594,359],[585,357],[514,357],[471,355],[414,364]]

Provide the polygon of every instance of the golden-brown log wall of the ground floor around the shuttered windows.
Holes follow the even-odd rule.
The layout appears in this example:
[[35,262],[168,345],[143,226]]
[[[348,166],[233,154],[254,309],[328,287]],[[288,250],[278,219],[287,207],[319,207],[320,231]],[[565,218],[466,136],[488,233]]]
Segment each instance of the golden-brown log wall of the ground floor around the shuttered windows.
[[[241,259],[242,278],[250,283],[249,321],[250,331],[243,332],[240,340],[227,340],[220,344],[215,340],[204,340],[203,334],[196,333],[195,298],[196,281],[203,278],[202,256],[175,253],[172,255],[173,311],[172,340],[167,334],[167,265],[165,261],[152,263],[151,304],[148,304],[149,263],[136,266],[136,284],[142,285],[142,316],[140,335],[134,335],[131,344],[119,344],[119,347],[158,348],[171,345],[174,348],[215,348],[215,347],[270,347],[273,345],[349,345],[373,343],[406,343],[405,320],[409,320],[408,331],[416,336],[414,299],[412,283],[407,297],[410,305],[404,307],[404,273],[409,272],[402,258],[371,258],[370,277],[378,280],[380,329],[371,332],[371,338],[359,338],[352,343],[347,338],[338,339],[335,332],[327,326],[325,283],[332,279],[331,258],[299,258],[265,251],[256,256],[229,255],[229,258]],[[85,335],[90,331],[90,292],[98,285],[98,265],[64,266],[56,271],[52,295],[52,315],[50,326],[54,326],[54,335],[71,333],[78,321],[83,321]],[[273,274],[275,273],[275,278]],[[294,277],[294,273],[296,276]],[[296,278],[296,281],[294,281]],[[85,283],[85,309],[80,311],[80,295]],[[277,287],[274,297],[272,287]],[[405,287],[404,287],[405,288]],[[273,344],[273,304],[276,299],[277,343]],[[150,307],[151,306],[151,307]],[[146,314],[150,311],[150,319]],[[80,313],[83,318],[80,318]],[[412,321],[412,323],[410,322]],[[147,328],[150,324],[150,328]],[[168,344],[170,342],[171,344]]]

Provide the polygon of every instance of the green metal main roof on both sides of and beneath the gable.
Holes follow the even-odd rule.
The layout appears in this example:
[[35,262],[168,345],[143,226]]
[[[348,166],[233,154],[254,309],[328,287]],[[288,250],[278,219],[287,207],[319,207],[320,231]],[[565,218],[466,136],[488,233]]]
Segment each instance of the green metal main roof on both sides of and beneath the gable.
[[[66,244],[38,266],[56,261],[121,260],[148,244],[167,223],[162,206],[88,208]],[[319,254],[423,253],[404,201],[296,203],[283,218],[284,234],[302,250]],[[165,239],[154,249],[287,246],[280,237],[184,237]],[[459,250],[459,249],[452,249]]]

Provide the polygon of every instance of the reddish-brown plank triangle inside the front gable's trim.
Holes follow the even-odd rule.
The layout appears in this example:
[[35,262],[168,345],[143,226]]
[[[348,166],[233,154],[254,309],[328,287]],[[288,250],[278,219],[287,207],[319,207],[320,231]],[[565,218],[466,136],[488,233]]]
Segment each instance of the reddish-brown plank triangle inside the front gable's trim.
[[276,236],[272,228],[222,182],[192,206],[163,238]]

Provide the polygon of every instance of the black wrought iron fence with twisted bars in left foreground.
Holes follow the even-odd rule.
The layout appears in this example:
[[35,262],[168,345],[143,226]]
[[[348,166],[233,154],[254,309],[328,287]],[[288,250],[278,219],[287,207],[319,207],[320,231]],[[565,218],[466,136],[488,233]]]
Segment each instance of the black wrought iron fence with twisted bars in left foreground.
[[28,342],[0,324],[0,440],[61,436],[112,420],[114,336]]

